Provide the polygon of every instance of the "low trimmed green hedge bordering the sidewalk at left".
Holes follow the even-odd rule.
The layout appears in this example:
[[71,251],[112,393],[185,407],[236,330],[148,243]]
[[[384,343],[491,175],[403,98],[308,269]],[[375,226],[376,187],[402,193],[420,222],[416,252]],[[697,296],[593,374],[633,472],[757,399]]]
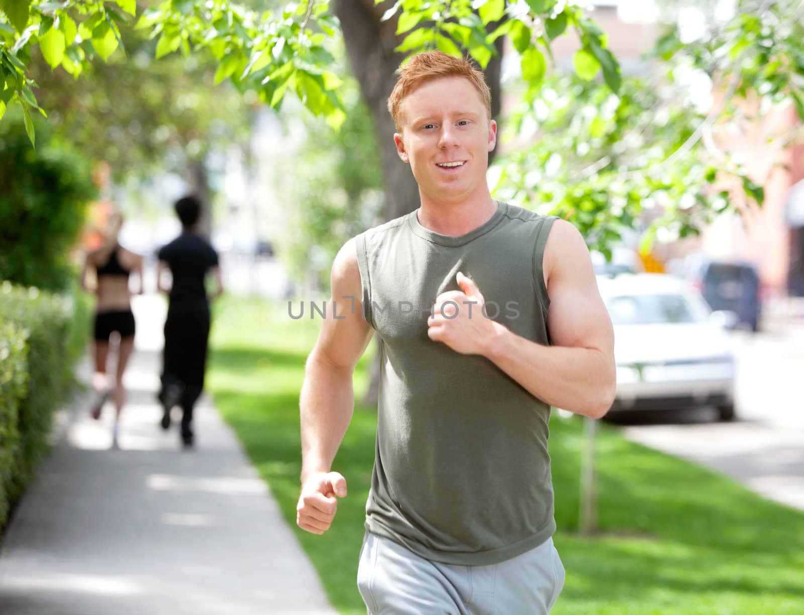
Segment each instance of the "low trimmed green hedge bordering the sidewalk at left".
[[76,382],[90,308],[59,295],[0,282],[0,527],[47,451],[53,412]]

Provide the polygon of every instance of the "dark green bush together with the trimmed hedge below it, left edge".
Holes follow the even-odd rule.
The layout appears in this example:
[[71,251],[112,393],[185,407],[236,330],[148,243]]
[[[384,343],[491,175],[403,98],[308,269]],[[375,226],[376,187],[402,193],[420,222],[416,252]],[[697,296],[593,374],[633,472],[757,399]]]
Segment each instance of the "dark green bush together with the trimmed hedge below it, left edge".
[[85,158],[49,132],[37,128],[35,150],[19,118],[0,123],[0,529],[47,450],[89,335],[69,253],[96,190]]

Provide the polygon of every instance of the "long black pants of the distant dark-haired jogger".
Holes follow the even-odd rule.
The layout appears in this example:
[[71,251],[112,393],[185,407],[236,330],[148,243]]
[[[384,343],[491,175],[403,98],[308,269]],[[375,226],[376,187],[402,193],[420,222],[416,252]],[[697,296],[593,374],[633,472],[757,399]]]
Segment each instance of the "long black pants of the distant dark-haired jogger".
[[193,420],[193,408],[203,391],[209,340],[209,305],[170,304],[165,321],[165,348],[162,355],[162,392],[173,384],[183,387],[182,431]]

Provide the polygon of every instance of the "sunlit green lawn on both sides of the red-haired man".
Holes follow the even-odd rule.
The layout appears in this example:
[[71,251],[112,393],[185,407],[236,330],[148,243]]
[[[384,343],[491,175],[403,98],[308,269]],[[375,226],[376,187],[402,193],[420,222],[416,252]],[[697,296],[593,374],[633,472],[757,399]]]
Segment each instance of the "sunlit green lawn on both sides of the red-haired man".
[[[299,304],[293,303],[293,314]],[[287,303],[227,298],[215,310],[209,386],[268,482],[342,613],[365,613],[355,586],[376,413],[358,406],[334,469],[348,497],[326,535],[295,526],[301,469],[298,394],[321,320],[292,320]],[[367,384],[367,360],[355,391]],[[555,537],[567,582],[553,613],[804,613],[804,514],[736,483],[632,444],[603,426],[597,471],[601,531],[576,533],[580,420],[551,420]]]

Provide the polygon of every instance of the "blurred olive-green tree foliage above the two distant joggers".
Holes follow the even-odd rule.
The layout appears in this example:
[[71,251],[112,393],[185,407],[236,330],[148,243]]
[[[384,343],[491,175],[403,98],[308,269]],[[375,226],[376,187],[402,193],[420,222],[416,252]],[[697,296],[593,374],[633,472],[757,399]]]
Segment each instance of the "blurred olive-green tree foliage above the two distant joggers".
[[120,31],[128,55],[93,62],[86,78],[51,71],[40,54],[31,58],[39,105],[59,134],[88,158],[108,162],[118,180],[182,172],[210,150],[246,140],[256,96],[231,84],[216,88],[215,66],[203,58],[174,54],[157,61],[155,41],[125,25]]

